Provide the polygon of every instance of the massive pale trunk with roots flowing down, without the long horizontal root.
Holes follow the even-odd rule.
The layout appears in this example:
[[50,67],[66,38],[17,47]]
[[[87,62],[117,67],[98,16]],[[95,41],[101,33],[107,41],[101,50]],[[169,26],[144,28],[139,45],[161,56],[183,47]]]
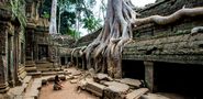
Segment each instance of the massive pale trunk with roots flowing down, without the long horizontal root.
[[[84,50],[88,68],[122,77],[122,46],[132,37],[135,12],[129,0],[109,0],[104,26],[100,35]],[[91,66],[93,58],[94,66]]]

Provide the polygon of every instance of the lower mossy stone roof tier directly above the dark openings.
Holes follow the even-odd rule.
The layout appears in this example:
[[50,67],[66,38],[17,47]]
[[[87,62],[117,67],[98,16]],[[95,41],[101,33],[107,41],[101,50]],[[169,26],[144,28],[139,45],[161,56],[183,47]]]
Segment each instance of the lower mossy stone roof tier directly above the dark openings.
[[203,65],[203,34],[184,34],[127,44],[123,59]]

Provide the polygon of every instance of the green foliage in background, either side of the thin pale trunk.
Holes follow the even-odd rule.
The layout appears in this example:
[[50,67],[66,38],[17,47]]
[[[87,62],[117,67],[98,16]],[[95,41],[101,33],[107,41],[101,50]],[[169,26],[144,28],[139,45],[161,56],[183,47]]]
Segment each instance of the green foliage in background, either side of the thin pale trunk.
[[[78,28],[82,26],[89,32],[101,26],[101,20],[93,14],[93,7],[97,0],[58,0],[57,4],[57,22],[59,33],[71,35],[74,38],[79,37]],[[50,16],[50,0],[44,0],[42,8],[42,16]]]

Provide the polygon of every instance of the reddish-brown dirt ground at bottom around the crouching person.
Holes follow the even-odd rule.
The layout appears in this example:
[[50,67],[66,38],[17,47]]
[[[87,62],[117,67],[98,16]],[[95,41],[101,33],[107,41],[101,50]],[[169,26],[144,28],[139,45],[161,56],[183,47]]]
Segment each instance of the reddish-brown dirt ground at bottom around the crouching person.
[[98,97],[81,90],[77,91],[77,84],[70,84],[69,80],[63,82],[61,90],[53,90],[53,84],[43,86],[40,94],[40,99],[99,99]]

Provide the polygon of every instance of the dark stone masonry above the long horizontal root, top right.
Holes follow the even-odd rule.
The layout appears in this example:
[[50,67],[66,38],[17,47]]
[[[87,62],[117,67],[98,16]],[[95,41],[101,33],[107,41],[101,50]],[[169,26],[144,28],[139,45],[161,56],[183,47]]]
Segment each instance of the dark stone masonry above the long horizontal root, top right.
[[150,15],[169,15],[182,8],[202,7],[202,0],[159,0],[154,4],[137,11],[140,15],[137,18],[146,18]]

